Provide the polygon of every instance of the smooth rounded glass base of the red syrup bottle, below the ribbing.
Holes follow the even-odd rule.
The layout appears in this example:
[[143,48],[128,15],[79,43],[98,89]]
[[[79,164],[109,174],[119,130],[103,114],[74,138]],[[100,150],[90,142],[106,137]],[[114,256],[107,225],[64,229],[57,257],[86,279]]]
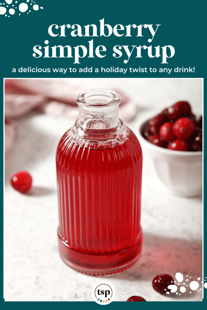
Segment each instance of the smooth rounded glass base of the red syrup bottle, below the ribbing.
[[58,248],[63,262],[70,268],[90,276],[107,276],[133,266],[141,255],[142,243],[140,228],[138,241],[126,250],[113,254],[85,254],[67,245],[58,232]]

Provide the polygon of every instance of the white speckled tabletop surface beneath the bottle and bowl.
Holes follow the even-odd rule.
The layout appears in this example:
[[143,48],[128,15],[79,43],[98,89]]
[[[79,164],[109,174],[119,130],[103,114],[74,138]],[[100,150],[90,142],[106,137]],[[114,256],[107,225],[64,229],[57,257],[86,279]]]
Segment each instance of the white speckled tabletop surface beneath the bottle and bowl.
[[[77,79],[74,83],[79,83]],[[83,80],[85,88],[96,83],[115,85],[133,97],[137,118],[143,110],[165,108],[189,100],[194,113],[202,114],[202,80],[116,79]],[[91,289],[100,278],[67,267],[57,250],[56,146],[74,120],[32,112],[17,119],[19,134],[13,154],[5,163],[4,298],[5,301],[92,301]],[[23,195],[9,184],[15,170],[28,170],[33,193]],[[202,301],[202,290],[189,283],[200,277],[202,288],[202,197],[183,198],[164,192],[144,159],[142,178],[144,233],[142,256],[131,268],[107,277],[116,289],[115,301],[132,295],[147,301]],[[158,294],[151,282],[160,273],[181,272],[186,292]],[[191,277],[191,278],[190,278]],[[175,284],[177,284],[176,281]],[[181,286],[181,284],[180,284]],[[199,290],[199,291],[198,291]],[[190,294],[191,291],[191,294]],[[179,295],[181,294],[181,295]]]

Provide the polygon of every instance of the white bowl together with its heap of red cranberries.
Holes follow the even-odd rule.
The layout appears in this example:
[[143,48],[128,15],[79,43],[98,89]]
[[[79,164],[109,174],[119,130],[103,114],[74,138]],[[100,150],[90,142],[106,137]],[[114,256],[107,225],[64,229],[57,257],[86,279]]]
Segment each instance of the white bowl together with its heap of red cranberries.
[[164,187],[179,196],[202,193],[203,119],[187,101],[141,117],[137,136]]

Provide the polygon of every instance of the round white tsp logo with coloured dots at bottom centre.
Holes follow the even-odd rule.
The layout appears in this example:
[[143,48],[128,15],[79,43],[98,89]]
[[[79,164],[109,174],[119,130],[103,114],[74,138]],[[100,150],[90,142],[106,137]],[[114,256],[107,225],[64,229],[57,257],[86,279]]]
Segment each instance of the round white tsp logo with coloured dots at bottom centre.
[[103,280],[93,286],[91,294],[96,303],[107,305],[114,300],[116,292],[110,282]]

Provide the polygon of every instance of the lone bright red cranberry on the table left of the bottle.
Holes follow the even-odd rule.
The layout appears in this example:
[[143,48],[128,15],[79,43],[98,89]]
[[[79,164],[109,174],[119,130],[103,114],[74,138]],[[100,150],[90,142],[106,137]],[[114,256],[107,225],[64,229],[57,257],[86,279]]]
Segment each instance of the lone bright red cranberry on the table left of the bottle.
[[32,177],[27,171],[17,171],[10,176],[10,182],[16,191],[26,193],[32,186]]

